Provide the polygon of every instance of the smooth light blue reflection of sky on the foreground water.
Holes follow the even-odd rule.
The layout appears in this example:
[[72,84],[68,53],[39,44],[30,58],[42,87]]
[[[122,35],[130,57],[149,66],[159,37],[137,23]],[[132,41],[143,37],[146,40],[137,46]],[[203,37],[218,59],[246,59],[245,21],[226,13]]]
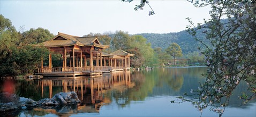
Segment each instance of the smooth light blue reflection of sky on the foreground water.
[[[118,108],[115,101],[110,105],[101,107],[100,115],[97,116],[200,116],[200,111],[191,105],[191,103],[170,103],[171,100],[177,99],[173,96],[159,96],[146,98],[145,101],[132,101],[125,108]],[[255,104],[246,110],[237,108],[226,108],[223,116],[255,116]],[[88,114],[76,114],[74,116]],[[219,116],[217,113],[209,111],[206,108],[202,116]]]

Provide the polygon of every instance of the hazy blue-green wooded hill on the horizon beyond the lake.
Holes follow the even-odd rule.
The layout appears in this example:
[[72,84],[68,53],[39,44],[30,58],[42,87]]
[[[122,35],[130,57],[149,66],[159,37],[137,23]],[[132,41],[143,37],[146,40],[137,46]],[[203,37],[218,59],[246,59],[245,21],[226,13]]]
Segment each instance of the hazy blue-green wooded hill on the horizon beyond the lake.
[[[147,38],[148,43],[152,44],[152,48],[161,47],[166,49],[171,43],[177,43],[183,51],[183,54],[189,52],[198,51],[198,47],[201,44],[194,40],[194,38],[185,30],[180,32],[171,32],[169,34],[135,34],[142,35]],[[201,31],[198,31],[198,35],[201,38],[205,38],[205,34],[202,34]]]

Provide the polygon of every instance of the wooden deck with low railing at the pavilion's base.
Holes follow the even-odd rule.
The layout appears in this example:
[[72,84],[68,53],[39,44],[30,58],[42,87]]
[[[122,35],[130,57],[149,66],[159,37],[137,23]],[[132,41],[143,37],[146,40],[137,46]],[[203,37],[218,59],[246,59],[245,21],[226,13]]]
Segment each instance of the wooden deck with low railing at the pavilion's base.
[[69,68],[39,68],[38,73],[44,77],[78,77],[78,76],[101,76],[103,73],[124,71],[130,68],[123,66],[93,66],[93,67],[69,67]]

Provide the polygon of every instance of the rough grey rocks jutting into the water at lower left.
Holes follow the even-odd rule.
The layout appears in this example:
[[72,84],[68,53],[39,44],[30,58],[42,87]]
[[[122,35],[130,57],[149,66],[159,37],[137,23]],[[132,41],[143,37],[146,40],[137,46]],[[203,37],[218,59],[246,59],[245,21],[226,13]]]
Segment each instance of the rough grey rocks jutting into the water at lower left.
[[0,94],[0,113],[11,112],[21,109],[33,107],[49,107],[66,104],[80,103],[77,94],[72,91],[70,93],[55,94],[52,98],[44,98],[40,101],[33,101],[33,99],[19,97],[16,94],[1,93]]

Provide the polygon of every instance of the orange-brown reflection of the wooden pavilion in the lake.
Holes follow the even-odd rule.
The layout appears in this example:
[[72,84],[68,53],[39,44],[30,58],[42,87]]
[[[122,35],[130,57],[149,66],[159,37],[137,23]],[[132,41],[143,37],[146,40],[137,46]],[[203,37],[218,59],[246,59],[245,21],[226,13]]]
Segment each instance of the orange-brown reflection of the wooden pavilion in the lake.
[[[49,78],[39,80],[41,87],[41,96],[47,95],[44,89],[49,88],[49,98],[52,98],[52,87],[62,87],[63,92],[75,91],[81,100],[77,111],[82,112],[99,112],[103,104],[111,103],[111,99],[104,96],[108,90],[124,91],[129,87],[134,87],[135,83],[131,82],[130,71],[117,71],[104,74],[101,77],[79,77],[76,79],[67,78]],[[126,88],[124,88],[126,87]],[[88,107],[91,106],[91,107]]]

